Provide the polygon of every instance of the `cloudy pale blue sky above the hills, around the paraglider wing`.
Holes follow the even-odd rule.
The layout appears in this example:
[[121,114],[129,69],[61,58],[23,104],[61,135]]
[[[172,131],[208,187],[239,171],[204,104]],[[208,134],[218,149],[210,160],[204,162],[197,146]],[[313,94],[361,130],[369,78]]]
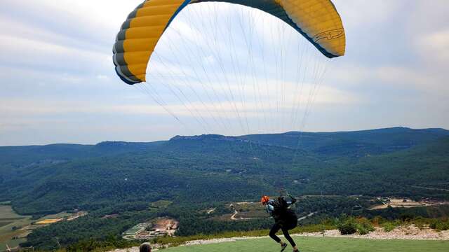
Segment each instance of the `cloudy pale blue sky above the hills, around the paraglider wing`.
[[196,3],[130,86],[112,45],[140,2],[2,0],[0,146],[449,129],[445,0],[334,0],[347,51],[331,60],[260,10]]

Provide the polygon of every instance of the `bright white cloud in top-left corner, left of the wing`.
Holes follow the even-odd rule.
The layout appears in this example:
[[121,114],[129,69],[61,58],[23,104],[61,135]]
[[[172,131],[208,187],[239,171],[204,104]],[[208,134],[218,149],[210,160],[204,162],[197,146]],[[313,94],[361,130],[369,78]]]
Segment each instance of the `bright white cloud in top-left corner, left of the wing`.
[[[15,18],[29,20],[34,18],[34,23],[39,27],[47,27],[53,31],[73,36],[91,36],[93,38],[106,38],[109,32],[118,31],[126,15],[138,6],[140,0],[4,0],[2,7],[15,13]],[[11,11],[13,10],[13,11]],[[123,11],[125,10],[125,12]],[[11,15],[11,14],[10,14]],[[21,15],[29,15],[23,17]],[[51,23],[51,25],[48,25]]]

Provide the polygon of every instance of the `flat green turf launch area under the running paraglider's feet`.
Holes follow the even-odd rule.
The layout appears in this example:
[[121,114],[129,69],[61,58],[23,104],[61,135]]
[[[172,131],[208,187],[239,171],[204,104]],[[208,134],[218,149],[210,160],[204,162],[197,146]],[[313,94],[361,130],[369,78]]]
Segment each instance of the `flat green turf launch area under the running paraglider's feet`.
[[[449,241],[417,240],[369,240],[350,238],[293,237],[302,252],[436,252],[448,251]],[[167,252],[272,252],[278,251],[279,245],[272,239],[247,239],[221,244],[203,244],[199,246],[168,248]],[[289,246],[286,251],[291,251]]]

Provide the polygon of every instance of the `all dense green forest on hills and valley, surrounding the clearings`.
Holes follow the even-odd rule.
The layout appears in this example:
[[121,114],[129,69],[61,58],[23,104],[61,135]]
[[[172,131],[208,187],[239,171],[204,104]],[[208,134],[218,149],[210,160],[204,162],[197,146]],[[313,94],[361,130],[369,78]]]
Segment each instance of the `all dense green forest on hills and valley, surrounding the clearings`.
[[[376,196],[449,200],[448,181],[449,131],[439,129],[0,147],[0,202],[11,200],[15,211],[35,218],[73,209],[89,212],[34,231],[25,245],[37,248],[116,239],[156,216],[179,219],[181,236],[268,228],[268,219],[230,223],[208,218],[201,210],[215,207],[223,213],[229,211],[222,207],[226,202],[255,201],[260,195],[277,195],[281,188],[300,197],[298,214],[316,212],[309,220],[314,222],[349,214],[356,204],[367,208]],[[158,200],[173,204],[149,207]],[[358,214],[407,214],[387,210]],[[101,218],[107,214],[119,216]]]

